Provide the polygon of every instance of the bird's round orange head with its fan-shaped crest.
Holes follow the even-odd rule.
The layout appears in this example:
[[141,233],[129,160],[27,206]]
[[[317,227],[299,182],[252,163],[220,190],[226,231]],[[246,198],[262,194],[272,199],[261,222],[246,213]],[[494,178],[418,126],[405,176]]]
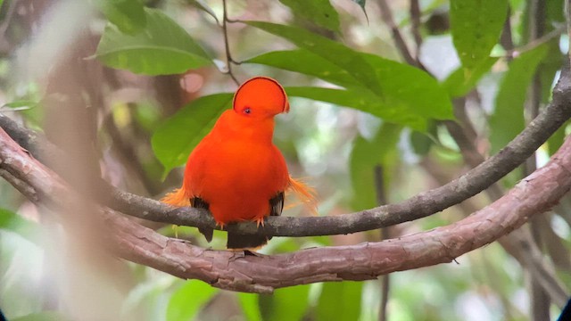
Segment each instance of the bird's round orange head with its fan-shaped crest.
[[289,111],[284,88],[276,80],[255,77],[247,80],[234,95],[234,111],[252,119],[266,119]]

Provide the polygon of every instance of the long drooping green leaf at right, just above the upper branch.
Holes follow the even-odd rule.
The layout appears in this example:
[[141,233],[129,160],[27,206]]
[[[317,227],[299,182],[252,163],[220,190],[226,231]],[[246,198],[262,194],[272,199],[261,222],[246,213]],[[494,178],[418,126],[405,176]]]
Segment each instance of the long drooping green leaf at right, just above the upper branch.
[[496,96],[495,110],[490,117],[492,152],[498,152],[525,127],[524,104],[527,88],[537,66],[547,54],[549,46],[540,45],[522,53],[509,64]]

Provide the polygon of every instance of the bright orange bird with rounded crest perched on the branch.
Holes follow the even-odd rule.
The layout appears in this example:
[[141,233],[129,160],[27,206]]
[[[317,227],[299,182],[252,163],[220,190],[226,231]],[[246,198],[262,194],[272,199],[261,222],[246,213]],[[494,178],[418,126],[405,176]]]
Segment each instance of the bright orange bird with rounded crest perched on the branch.
[[[274,116],[287,111],[287,96],[276,80],[246,81],[234,95],[233,108],[191,152],[182,187],[161,201],[210,210],[221,227],[240,221],[263,226],[264,218],[281,214],[288,190],[314,208],[313,191],[289,176],[284,156],[272,143]],[[201,233],[211,241],[211,229]],[[257,248],[270,238],[228,233],[227,247]]]

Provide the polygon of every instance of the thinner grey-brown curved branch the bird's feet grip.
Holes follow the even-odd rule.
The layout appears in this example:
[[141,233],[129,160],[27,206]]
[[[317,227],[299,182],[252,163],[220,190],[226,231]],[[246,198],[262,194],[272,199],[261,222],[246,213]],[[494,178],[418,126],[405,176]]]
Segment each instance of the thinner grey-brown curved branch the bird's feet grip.
[[[516,169],[536,149],[571,117],[571,78],[565,68],[553,89],[552,102],[514,140],[496,155],[482,162],[461,177],[433,190],[418,193],[410,199],[370,210],[362,210],[335,217],[269,217],[260,229],[252,222],[230,224],[228,231],[239,234],[274,236],[341,235],[363,232],[402,222],[425,218],[482,192],[490,185]],[[0,115],[0,127],[15,136],[24,148],[48,154],[59,154],[52,144],[18,127],[11,119]],[[35,154],[35,153],[34,153]],[[60,156],[61,157],[61,156]],[[219,228],[206,210],[193,208],[173,209],[161,202],[109,187],[103,195],[104,203],[137,218],[155,222]]]

